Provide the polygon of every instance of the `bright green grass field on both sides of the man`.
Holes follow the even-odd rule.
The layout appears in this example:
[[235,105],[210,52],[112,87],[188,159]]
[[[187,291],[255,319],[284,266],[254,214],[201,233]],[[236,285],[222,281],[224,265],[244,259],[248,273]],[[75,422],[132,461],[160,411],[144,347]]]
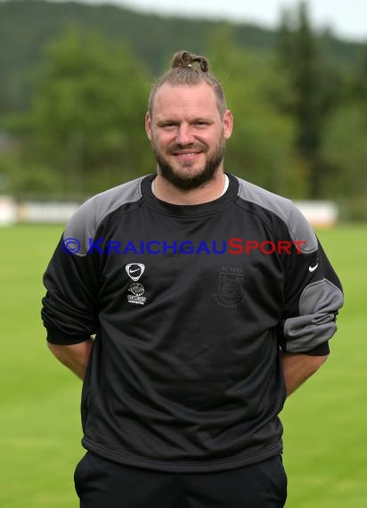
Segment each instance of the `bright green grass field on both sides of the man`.
[[[39,318],[42,274],[61,229],[0,229],[4,508],[77,507],[72,474],[83,455],[81,383],[48,352]],[[344,285],[346,306],[330,359],[282,413],[287,508],[361,508],[367,503],[367,226],[339,226],[319,237]]]

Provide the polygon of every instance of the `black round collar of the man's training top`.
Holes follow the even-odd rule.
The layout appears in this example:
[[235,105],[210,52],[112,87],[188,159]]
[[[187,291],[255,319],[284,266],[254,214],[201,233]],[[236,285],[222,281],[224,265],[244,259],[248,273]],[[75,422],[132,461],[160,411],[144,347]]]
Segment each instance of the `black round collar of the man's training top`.
[[151,191],[151,183],[156,175],[148,175],[143,178],[141,184],[143,201],[151,208],[166,215],[192,217],[216,213],[234,201],[239,191],[237,178],[228,173],[224,174],[228,177],[228,186],[226,189],[224,188],[224,193],[216,198],[216,200],[196,205],[175,205],[159,200]]

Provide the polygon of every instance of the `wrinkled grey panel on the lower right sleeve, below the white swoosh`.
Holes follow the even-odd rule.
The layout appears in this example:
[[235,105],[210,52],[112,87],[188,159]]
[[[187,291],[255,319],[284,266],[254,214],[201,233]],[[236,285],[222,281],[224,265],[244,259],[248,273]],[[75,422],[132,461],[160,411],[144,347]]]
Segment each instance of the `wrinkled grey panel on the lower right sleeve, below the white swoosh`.
[[329,340],[337,330],[335,317],[343,303],[342,291],[327,279],[308,284],[299,299],[299,315],[284,323],[287,351],[304,353]]

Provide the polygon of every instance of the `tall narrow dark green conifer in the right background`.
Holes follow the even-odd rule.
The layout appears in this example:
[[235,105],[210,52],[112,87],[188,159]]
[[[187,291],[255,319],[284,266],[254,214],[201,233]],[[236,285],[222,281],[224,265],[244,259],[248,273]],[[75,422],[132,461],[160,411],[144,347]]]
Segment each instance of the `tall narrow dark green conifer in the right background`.
[[306,163],[308,195],[316,199],[322,197],[325,172],[330,170],[328,161],[322,158],[322,143],[341,83],[338,71],[322,58],[305,3],[299,4],[294,16],[289,11],[282,13],[278,53],[289,85],[281,110],[295,121],[294,145]]

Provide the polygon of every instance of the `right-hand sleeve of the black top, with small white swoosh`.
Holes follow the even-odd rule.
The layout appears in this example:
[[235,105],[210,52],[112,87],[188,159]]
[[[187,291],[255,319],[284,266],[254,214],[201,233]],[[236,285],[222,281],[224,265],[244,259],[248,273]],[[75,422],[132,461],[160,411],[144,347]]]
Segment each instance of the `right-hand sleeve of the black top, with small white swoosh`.
[[[290,353],[327,354],[327,342],[337,330],[336,316],[343,305],[341,283],[314,232],[294,212],[304,233],[306,248],[293,249],[285,258],[285,304],[281,347]],[[300,240],[300,239],[299,239]],[[303,246],[302,246],[303,247]]]

